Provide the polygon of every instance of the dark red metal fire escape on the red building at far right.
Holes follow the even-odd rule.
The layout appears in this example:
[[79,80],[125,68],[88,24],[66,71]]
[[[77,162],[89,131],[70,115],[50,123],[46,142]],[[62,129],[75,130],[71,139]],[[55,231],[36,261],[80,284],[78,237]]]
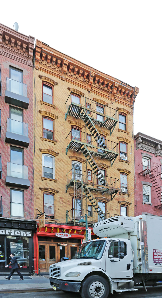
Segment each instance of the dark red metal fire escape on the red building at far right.
[[[154,190],[157,194],[156,198],[156,206],[157,208],[162,207],[162,191],[161,186],[158,183],[158,177],[161,175],[161,165],[150,162],[150,161],[144,161],[140,165],[140,172],[138,175],[142,175],[145,177],[149,177],[152,186],[154,187]],[[159,204],[160,202],[160,204]]]

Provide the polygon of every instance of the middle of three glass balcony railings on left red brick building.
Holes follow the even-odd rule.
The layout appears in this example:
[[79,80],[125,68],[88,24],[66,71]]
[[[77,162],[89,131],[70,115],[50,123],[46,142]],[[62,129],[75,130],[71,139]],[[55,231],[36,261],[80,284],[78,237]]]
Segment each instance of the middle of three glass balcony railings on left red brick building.
[[27,123],[7,118],[7,131],[22,136],[28,136],[28,125]]

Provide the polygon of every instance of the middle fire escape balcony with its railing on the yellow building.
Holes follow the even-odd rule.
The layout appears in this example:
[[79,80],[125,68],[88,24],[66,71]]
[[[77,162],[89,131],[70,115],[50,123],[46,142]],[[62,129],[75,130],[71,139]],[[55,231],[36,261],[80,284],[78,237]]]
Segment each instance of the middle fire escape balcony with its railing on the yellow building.
[[86,145],[89,148],[90,154],[92,156],[101,157],[101,159],[103,158],[108,159],[111,161],[111,166],[112,166],[112,164],[115,162],[115,159],[119,155],[118,143],[111,142],[104,138],[98,139],[98,141],[96,141],[93,135],[84,133],[82,131],[80,132],[80,135],[77,138],[76,136],[74,136],[72,131],[73,129],[71,129],[70,133],[66,137],[67,139],[66,155],[69,149],[82,153],[83,151],[81,150],[81,148],[84,145]]

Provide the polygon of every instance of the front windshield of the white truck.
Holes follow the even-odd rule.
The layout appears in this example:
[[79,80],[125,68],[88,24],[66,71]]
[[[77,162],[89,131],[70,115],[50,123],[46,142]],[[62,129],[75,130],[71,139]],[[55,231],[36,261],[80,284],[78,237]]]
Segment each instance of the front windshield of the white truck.
[[85,242],[81,245],[76,259],[90,258],[90,259],[101,259],[104,249],[106,246],[105,240]]

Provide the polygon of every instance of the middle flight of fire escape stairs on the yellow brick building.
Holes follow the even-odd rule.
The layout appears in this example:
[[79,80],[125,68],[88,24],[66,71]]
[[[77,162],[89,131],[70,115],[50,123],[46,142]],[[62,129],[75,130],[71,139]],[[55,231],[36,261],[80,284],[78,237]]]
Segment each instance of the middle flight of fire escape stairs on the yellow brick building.
[[87,149],[87,147],[84,145],[84,147],[81,148],[81,151],[83,155],[86,158],[86,161],[90,164],[90,167],[92,168],[93,172],[97,176],[98,180],[100,181],[101,185],[108,186],[105,177],[101,173],[101,170],[99,169],[98,165],[96,164],[95,160],[93,159],[92,155],[90,154],[90,151]]

